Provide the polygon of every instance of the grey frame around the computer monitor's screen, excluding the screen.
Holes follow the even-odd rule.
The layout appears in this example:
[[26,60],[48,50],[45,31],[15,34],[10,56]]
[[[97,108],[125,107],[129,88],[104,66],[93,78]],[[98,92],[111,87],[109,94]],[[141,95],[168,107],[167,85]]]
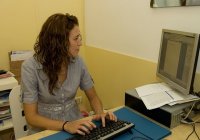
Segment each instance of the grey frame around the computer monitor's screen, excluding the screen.
[[[180,34],[185,36],[191,36],[194,37],[194,49],[192,52],[192,58],[190,63],[190,70],[189,70],[189,76],[188,76],[188,82],[186,84],[186,87],[183,87],[179,85],[178,83],[172,81],[168,77],[162,75],[159,72],[160,68],[160,61],[161,61],[161,53],[163,49],[163,38],[165,33],[172,33],[172,34]],[[193,92],[193,83],[194,83],[194,77],[196,73],[196,67],[198,62],[198,55],[199,55],[199,48],[200,48],[200,41],[199,41],[199,34],[197,33],[190,33],[190,32],[183,32],[183,31],[176,31],[176,30],[169,30],[169,29],[163,29],[161,34],[161,42],[160,42],[160,51],[158,56],[158,64],[157,64],[157,71],[156,75],[163,80],[163,82],[167,83],[172,89],[177,90],[183,94],[190,94]]]

